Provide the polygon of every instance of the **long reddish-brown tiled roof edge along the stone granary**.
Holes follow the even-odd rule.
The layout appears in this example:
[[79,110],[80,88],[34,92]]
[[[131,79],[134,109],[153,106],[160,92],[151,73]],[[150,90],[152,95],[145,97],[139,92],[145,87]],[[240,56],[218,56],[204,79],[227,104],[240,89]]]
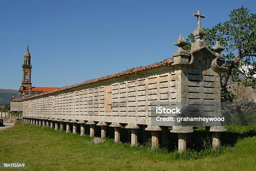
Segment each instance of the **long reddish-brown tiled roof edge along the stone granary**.
[[172,63],[173,63],[173,58],[168,58],[168,59],[165,59],[161,62],[156,62],[156,63],[150,64],[150,65],[147,65],[147,66],[140,66],[140,67],[137,67],[137,68],[131,68],[129,70],[125,70],[125,71],[120,72],[120,73],[114,73],[112,75],[106,75],[106,76],[101,77],[101,78],[95,78],[93,80],[87,80],[83,83],[70,85],[70,86],[67,86],[67,87],[59,88],[59,89],[56,89],[56,90],[53,90],[53,91],[48,91],[46,93],[41,93],[41,94],[38,94],[38,95],[23,98],[23,99],[29,99],[29,98],[34,98],[34,97],[38,97],[38,96],[43,96],[43,95],[50,94],[50,93],[55,93],[55,92],[58,92],[58,91],[64,91],[64,90],[67,90],[67,89],[70,89],[70,88],[75,88],[75,87],[79,87],[79,86],[86,85],[86,84],[96,83],[96,82],[99,82],[99,81],[102,81],[102,80],[108,80],[110,78],[117,78],[117,77],[121,77],[121,76],[124,76],[124,75],[134,74],[134,73],[138,73],[138,72],[141,72],[141,71],[144,71],[144,70],[151,70],[151,69],[154,69],[154,68],[165,67],[165,66],[172,65]]

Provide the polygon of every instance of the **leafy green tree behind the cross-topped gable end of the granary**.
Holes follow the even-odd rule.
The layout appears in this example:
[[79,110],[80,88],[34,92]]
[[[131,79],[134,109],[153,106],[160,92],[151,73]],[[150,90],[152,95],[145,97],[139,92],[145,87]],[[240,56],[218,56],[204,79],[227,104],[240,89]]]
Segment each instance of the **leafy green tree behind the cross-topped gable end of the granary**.
[[[228,80],[234,83],[250,86],[256,89],[256,15],[250,13],[247,8],[239,8],[231,11],[230,20],[218,23],[212,28],[204,28],[205,35],[202,38],[212,49],[216,41],[225,48],[223,56],[227,69],[222,71],[221,100],[233,101],[236,95],[228,90]],[[187,38],[190,50],[191,43],[195,42],[195,36],[190,34]],[[239,75],[243,75],[241,79]]]

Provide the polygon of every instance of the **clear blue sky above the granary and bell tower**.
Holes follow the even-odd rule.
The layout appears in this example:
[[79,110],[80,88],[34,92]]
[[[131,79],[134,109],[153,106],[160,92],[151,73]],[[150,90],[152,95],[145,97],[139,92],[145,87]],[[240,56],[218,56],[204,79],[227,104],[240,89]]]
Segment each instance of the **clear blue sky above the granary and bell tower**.
[[172,57],[179,34],[229,19],[253,0],[4,0],[0,88],[18,90],[30,43],[32,86],[63,87]]

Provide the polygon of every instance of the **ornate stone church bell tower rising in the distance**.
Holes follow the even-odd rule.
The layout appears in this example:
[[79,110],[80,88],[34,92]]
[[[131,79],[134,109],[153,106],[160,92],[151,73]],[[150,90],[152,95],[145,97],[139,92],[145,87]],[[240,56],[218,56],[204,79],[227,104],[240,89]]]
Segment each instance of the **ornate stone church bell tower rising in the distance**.
[[30,88],[31,87],[31,55],[29,53],[29,47],[27,46],[26,53],[24,55],[24,63],[22,65],[23,70],[23,76],[22,76],[22,82],[20,86],[20,93],[23,93],[24,88]]

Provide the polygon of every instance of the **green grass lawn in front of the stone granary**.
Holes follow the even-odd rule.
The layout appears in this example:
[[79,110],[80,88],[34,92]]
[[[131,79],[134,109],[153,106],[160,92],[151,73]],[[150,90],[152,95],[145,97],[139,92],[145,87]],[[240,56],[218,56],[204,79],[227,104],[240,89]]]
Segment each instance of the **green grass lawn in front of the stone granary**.
[[256,165],[256,136],[216,151],[206,146],[182,154],[113,139],[87,144],[89,136],[26,124],[0,131],[0,140],[0,162],[25,162],[28,170],[254,170]]

